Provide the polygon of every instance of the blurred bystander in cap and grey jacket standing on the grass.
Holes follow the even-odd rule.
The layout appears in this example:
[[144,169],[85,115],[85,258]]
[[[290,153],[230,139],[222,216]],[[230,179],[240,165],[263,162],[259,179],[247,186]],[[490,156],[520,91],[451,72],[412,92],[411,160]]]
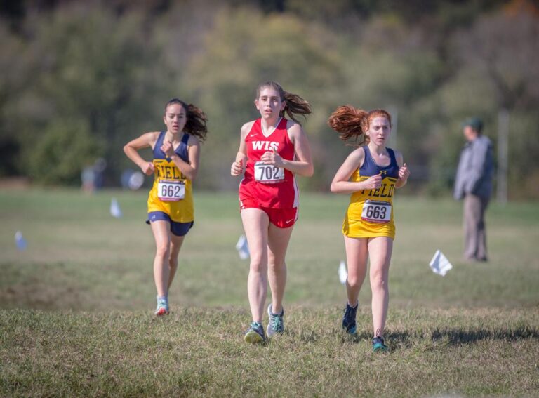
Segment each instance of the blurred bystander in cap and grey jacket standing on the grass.
[[485,210],[492,192],[494,159],[492,142],[482,134],[483,122],[476,117],[463,124],[467,140],[460,152],[454,197],[464,199],[464,257],[486,261]]

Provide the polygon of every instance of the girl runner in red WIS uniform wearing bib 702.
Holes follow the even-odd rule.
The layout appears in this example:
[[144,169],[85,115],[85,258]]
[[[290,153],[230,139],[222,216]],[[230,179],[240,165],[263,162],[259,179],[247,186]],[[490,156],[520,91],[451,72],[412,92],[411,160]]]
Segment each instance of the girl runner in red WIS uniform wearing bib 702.
[[[267,336],[284,331],[282,305],[286,286],[285,255],[293,225],[298,219],[295,174],[313,173],[307,136],[295,114],[310,114],[310,104],[287,93],[274,81],[260,84],[255,107],[260,119],[241,127],[241,139],[231,174],[244,174],[239,185],[241,220],[251,252],[247,293],[253,322],[246,331],[248,343],[263,342],[262,326],[267,282],[272,303]],[[291,120],[284,118],[288,114]]]

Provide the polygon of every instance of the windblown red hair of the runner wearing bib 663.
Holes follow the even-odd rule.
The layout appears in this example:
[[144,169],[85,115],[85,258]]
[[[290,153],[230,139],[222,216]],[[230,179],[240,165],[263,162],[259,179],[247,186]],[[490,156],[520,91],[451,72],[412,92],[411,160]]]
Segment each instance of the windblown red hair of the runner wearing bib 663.
[[333,111],[328,118],[328,125],[339,133],[341,140],[347,142],[354,139],[353,145],[361,146],[368,144],[365,132],[375,117],[385,117],[391,127],[391,115],[386,110],[365,111],[352,105],[342,105]]

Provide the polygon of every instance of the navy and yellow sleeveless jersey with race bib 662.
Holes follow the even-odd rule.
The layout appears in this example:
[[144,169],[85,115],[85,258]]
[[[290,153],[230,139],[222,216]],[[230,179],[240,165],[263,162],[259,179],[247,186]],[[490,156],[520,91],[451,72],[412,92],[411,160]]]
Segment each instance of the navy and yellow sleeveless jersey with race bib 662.
[[[159,138],[154,146],[154,185],[149,191],[148,213],[162,211],[176,223],[190,223],[194,220],[191,180],[186,178],[171,158],[166,157],[166,154],[161,150],[165,133],[165,131],[159,133]],[[188,141],[189,134],[184,133],[180,145],[174,151],[183,161],[187,162],[189,161]],[[167,196],[171,195],[173,197],[176,195],[176,197],[169,200]],[[178,200],[177,197],[182,197],[182,199]]]

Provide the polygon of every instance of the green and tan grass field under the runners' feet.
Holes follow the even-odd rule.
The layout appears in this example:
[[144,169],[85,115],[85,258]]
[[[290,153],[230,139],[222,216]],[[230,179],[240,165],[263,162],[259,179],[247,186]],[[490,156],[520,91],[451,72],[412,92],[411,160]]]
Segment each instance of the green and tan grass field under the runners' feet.
[[[387,355],[370,350],[368,283],[359,335],[339,329],[347,197],[302,194],[287,331],[255,347],[241,340],[250,319],[236,196],[197,192],[195,204],[173,313],[154,319],[144,192],[0,192],[0,396],[539,395],[539,204],[492,204],[490,261],[470,264],[460,204],[397,197]],[[438,248],[454,266],[446,277],[428,267]]]

